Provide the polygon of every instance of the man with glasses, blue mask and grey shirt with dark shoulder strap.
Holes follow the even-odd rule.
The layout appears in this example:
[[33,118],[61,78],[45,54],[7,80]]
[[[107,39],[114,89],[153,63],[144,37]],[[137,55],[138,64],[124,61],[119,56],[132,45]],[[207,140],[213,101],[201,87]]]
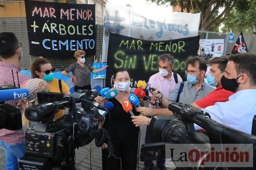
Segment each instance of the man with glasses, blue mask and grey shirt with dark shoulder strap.
[[[203,59],[200,58],[190,58],[186,63],[187,70],[187,81],[177,83],[175,88],[170,93],[168,99],[162,95],[162,92],[157,89],[160,93],[153,92],[152,95],[157,97],[162,103],[162,109],[154,109],[151,111],[140,110],[139,107],[136,111],[144,116],[155,116],[155,115],[166,115],[169,103],[186,103],[190,104],[196,102],[197,100],[203,99],[210,92],[214,91],[215,87],[204,81],[204,75],[207,70],[207,64]],[[155,88],[155,87],[154,87]],[[171,112],[169,112],[171,114]],[[138,122],[138,120],[133,120],[133,122]]]

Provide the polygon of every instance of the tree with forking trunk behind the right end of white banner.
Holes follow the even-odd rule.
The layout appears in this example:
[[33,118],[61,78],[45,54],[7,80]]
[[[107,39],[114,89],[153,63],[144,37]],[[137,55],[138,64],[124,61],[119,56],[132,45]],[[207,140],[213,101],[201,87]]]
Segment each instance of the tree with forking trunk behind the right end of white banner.
[[[147,0],[154,3],[169,3],[172,7],[180,6],[181,12],[192,11],[190,0]],[[201,31],[216,31],[219,25],[226,19],[234,7],[245,9],[248,6],[247,0],[192,0],[193,9],[201,12],[200,26]],[[223,9],[221,13],[219,10]]]

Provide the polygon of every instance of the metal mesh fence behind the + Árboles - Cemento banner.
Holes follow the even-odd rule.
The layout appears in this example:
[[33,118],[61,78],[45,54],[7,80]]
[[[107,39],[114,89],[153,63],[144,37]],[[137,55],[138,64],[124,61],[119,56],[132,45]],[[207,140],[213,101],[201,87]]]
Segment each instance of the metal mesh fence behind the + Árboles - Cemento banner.
[[[96,55],[86,56],[86,62],[91,66],[93,63],[101,62],[102,58],[102,42],[103,42],[103,21],[96,21]],[[33,63],[39,56],[29,55],[29,38],[27,35],[27,21],[26,17],[11,17],[0,18],[0,32],[13,32],[22,43],[23,57],[19,61],[19,66],[30,69]],[[76,61],[75,58],[46,58],[50,60],[51,64],[57,69],[63,70],[70,64]]]

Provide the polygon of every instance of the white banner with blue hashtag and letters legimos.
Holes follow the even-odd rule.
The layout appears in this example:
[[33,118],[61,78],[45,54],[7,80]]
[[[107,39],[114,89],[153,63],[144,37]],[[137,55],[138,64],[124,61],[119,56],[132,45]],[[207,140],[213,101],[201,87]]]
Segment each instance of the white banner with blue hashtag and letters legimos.
[[[157,15],[157,11],[148,12],[154,12]],[[159,20],[156,21],[107,2],[102,61],[107,60],[109,32],[143,40],[172,40],[197,36],[199,22],[200,13],[173,12],[168,17],[159,16]]]

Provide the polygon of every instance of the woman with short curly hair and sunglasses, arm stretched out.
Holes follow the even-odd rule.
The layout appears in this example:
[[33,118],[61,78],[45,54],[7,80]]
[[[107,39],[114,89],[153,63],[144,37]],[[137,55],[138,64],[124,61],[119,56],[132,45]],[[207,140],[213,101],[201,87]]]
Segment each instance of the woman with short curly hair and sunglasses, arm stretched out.
[[[71,64],[65,69],[62,74],[72,78],[74,83],[74,90],[91,90],[91,72],[97,73],[103,71],[106,67],[94,70],[88,63],[85,62],[85,52],[83,50],[76,50],[74,57],[77,62]],[[73,75],[69,74],[72,72]]]

